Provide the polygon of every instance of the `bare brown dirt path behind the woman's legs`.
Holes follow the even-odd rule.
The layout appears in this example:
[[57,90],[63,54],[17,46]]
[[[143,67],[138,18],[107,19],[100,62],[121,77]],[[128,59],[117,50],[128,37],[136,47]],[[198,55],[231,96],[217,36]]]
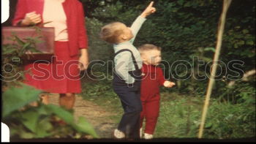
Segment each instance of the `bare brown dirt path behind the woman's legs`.
[[[50,95],[50,103],[53,105],[59,105],[59,95]],[[107,110],[104,110],[99,105],[84,100],[81,96],[76,96],[75,99],[75,118],[79,116],[85,117],[96,130],[100,138],[111,138],[113,129],[116,128],[117,124],[108,118],[110,115],[116,115]]]

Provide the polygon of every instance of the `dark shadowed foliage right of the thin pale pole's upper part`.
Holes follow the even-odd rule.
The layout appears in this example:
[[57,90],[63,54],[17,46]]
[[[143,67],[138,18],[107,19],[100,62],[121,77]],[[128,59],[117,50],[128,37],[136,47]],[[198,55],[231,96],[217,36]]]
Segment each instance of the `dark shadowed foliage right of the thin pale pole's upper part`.
[[255,1],[234,1],[226,28],[224,53],[239,59],[252,58],[255,64]]

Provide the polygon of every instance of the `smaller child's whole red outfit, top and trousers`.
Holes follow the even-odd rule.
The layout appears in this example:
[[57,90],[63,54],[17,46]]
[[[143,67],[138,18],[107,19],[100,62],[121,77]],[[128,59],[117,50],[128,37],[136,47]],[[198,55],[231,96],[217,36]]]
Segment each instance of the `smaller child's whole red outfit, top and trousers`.
[[165,82],[165,77],[160,67],[143,64],[143,77],[141,80],[140,100],[143,111],[140,113],[140,128],[146,119],[145,133],[153,134],[159,116],[160,90]]

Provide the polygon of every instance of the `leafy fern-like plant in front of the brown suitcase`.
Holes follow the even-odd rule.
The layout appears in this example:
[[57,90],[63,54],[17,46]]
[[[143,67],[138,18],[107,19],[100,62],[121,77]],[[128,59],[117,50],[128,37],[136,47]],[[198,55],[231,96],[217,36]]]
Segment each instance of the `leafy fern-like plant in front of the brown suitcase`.
[[[41,29],[37,26],[31,27],[37,32],[37,37],[26,37],[20,39],[15,33],[11,37],[4,37],[5,39],[10,39],[12,42],[6,45],[2,45],[2,77],[1,80],[4,81],[3,86],[15,85],[16,81],[23,80],[24,71],[23,67],[24,61],[29,58],[26,52],[31,53],[41,53],[36,49],[36,44],[42,42],[40,40]],[[8,82],[8,83],[5,83]]]

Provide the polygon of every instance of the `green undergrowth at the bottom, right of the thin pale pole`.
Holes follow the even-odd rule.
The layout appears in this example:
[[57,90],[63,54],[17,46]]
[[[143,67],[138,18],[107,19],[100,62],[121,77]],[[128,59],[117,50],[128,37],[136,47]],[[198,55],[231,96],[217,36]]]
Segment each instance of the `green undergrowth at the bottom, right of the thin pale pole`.
[[255,97],[249,99],[252,101],[240,104],[212,101],[206,119],[208,124],[204,131],[205,137],[219,139],[254,137]]

